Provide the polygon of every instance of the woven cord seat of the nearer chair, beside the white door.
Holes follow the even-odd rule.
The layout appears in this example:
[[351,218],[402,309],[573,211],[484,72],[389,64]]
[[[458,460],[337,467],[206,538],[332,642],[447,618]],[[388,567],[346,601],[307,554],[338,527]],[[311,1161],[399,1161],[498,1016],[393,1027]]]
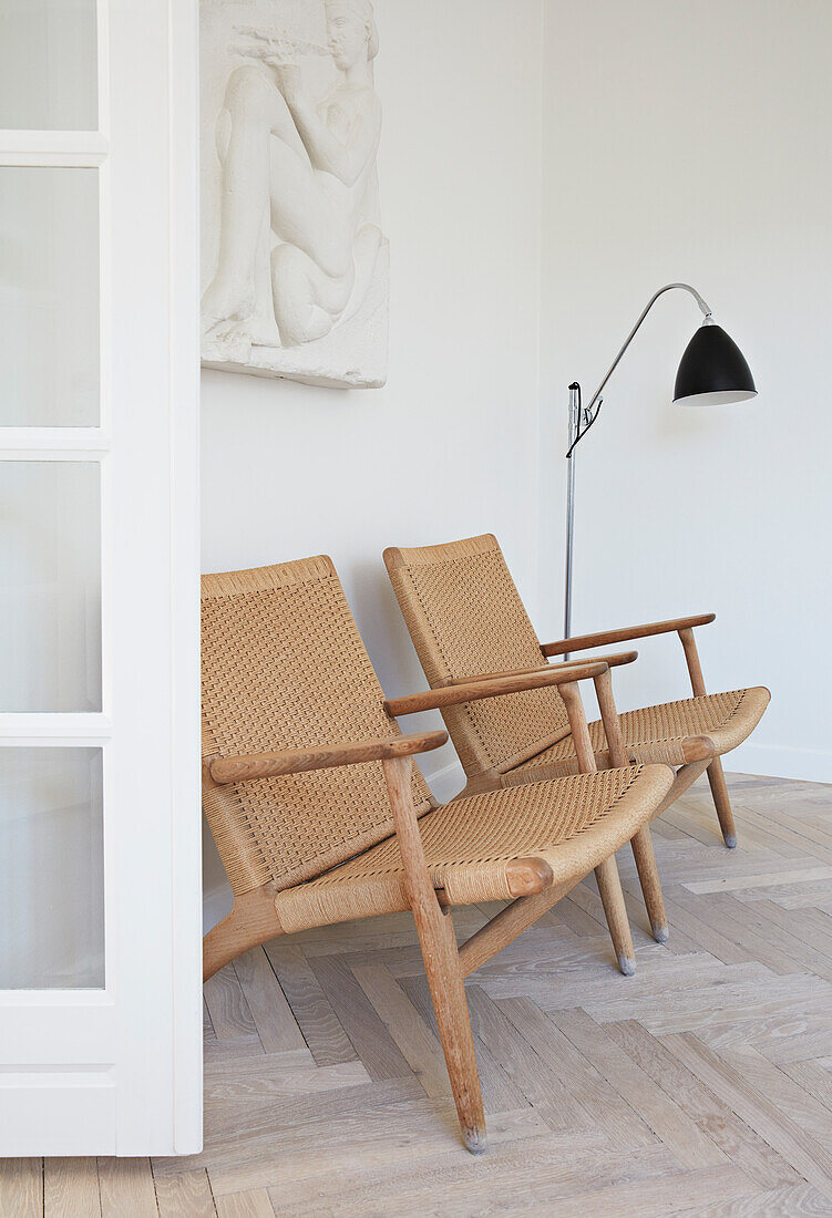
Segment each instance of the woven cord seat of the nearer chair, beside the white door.
[[[672,782],[666,766],[631,766],[454,800],[424,816],[421,840],[435,888],[454,905],[510,899],[507,864],[536,857],[554,883],[582,878],[649,822]],[[396,838],[279,893],[284,931],[408,907]]]

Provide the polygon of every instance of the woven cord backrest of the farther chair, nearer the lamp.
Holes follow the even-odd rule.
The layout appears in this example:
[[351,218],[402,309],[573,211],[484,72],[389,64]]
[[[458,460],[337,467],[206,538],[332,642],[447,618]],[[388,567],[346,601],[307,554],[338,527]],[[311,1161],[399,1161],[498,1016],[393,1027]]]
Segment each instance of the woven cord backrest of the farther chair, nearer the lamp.
[[[484,672],[548,666],[491,535],[387,551],[385,560],[431,687]],[[509,769],[569,731],[554,687],[451,706],[442,716],[469,775]]]

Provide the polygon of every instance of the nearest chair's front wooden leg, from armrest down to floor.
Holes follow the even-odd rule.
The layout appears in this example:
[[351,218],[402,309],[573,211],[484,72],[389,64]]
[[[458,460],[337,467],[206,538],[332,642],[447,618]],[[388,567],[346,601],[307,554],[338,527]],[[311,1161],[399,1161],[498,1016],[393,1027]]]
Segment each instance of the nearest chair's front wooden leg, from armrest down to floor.
[[485,1150],[485,1112],[459,950],[451,915],[442,911],[425,864],[413,808],[412,761],[397,758],[381,765],[463,1141],[473,1155],[480,1155]]

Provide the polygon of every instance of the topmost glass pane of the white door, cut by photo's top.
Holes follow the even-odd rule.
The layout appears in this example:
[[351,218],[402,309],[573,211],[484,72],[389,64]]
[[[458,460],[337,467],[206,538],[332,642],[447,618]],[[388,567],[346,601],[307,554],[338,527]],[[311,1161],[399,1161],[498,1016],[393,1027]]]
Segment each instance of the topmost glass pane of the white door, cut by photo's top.
[[0,127],[96,130],[95,0],[0,0]]

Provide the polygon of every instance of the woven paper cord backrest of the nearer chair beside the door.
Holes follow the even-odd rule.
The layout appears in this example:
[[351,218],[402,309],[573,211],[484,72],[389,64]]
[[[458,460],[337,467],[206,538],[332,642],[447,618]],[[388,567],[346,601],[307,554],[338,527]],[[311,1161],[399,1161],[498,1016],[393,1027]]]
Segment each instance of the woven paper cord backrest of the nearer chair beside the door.
[[[305,559],[202,580],[202,755],[400,736],[335,570]],[[434,806],[414,766],[414,803]],[[235,893],[286,888],[392,833],[379,761],[203,784]]]

